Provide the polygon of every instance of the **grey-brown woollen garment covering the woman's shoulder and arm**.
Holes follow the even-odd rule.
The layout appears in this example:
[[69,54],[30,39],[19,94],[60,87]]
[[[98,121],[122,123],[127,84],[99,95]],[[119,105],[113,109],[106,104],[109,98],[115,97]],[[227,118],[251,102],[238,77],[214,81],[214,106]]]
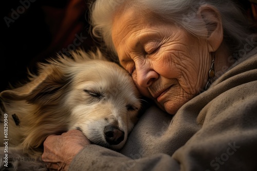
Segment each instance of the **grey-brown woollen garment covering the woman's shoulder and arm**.
[[257,170],[257,48],[174,117],[151,106],[120,153],[88,145],[70,170]]

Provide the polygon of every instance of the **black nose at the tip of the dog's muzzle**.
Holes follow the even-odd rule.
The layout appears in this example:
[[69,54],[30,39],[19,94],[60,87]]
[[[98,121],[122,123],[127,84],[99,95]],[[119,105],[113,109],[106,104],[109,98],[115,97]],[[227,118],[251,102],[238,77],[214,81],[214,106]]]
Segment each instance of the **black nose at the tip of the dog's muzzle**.
[[124,140],[124,132],[113,125],[105,126],[104,135],[106,141],[111,145],[117,145]]

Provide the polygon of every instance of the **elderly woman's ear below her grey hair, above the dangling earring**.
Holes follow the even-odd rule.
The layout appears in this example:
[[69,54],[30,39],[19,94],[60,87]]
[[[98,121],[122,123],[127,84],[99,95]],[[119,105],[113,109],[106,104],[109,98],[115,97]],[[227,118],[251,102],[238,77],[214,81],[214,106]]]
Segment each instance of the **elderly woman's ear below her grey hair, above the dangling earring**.
[[209,52],[215,52],[223,41],[222,17],[218,10],[211,5],[202,5],[198,10],[198,15],[206,26],[208,36]]

